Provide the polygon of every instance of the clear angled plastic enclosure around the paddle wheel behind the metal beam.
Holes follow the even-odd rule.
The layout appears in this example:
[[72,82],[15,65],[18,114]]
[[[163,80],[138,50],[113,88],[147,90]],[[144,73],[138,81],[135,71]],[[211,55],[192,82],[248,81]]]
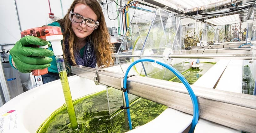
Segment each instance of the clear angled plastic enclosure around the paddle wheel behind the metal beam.
[[[169,54],[181,54],[184,48],[179,18],[162,9],[134,16],[116,54],[118,64],[140,58],[155,58],[171,64]],[[184,52],[183,52],[184,53]],[[122,67],[122,66],[121,66]],[[147,75],[161,69],[151,63],[136,64],[137,74]]]

